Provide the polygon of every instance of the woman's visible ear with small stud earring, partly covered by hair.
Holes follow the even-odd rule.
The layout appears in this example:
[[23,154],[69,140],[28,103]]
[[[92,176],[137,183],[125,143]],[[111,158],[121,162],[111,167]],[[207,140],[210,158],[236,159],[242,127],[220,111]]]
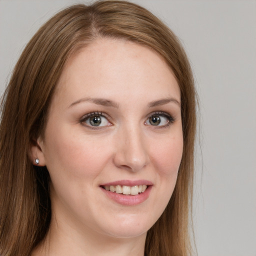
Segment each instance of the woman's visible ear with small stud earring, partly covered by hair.
[[[44,166],[45,157],[43,153],[43,141],[39,136],[37,139],[32,139],[29,145],[29,158],[33,165],[35,166]],[[38,159],[38,163],[36,162]]]

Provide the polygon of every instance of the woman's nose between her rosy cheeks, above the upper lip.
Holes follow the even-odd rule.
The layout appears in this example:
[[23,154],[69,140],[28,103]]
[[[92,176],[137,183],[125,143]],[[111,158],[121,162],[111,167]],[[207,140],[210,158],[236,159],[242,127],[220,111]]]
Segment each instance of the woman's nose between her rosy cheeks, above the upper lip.
[[114,164],[122,169],[138,171],[149,163],[146,139],[139,128],[126,128],[116,139]]

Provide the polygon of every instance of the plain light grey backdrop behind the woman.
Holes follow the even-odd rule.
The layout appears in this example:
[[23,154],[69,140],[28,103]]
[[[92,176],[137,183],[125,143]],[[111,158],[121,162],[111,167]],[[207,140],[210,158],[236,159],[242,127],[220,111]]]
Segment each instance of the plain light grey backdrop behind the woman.
[[[0,0],[1,94],[33,33],[77,2]],[[194,71],[200,98],[193,204],[198,256],[255,256],[256,1],[133,2],[179,36]]]

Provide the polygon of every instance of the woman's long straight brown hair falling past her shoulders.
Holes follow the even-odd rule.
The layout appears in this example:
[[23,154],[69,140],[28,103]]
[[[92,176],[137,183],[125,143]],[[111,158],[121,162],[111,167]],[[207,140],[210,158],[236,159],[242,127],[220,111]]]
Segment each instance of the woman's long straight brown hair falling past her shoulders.
[[195,91],[186,54],[152,13],[126,1],[76,4],[49,19],[23,50],[1,103],[0,254],[30,255],[51,216],[46,167],[32,165],[32,139],[43,135],[54,87],[68,57],[97,37],[121,38],[153,49],[170,66],[181,93],[183,155],[177,182],[161,217],[148,230],[147,256],[190,255]]

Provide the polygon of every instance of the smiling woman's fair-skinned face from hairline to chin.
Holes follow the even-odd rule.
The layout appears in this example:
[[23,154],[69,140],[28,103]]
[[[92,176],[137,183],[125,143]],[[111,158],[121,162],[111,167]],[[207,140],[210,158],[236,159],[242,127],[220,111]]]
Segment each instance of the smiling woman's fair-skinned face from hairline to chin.
[[38,141],[57,220],[82,232],[144,235],[181,160],[177,81],[149,48],[98,39],[66,63]]

